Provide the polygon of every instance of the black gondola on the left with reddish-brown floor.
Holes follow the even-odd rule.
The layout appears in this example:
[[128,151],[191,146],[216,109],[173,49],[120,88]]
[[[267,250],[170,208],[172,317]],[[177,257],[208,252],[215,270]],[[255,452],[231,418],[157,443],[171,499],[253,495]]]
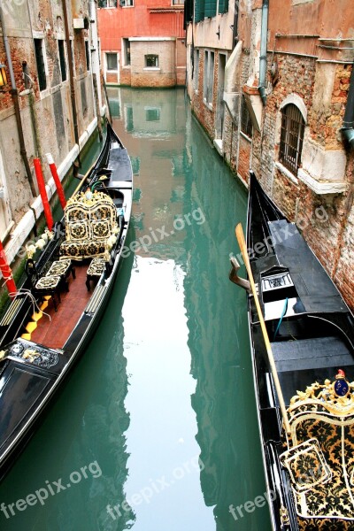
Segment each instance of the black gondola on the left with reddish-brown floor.
[[130,158],[108,124],[63,218],[27,247],[25,280],[0,320],[0,479],[96,329],[125,257],[132,199]]

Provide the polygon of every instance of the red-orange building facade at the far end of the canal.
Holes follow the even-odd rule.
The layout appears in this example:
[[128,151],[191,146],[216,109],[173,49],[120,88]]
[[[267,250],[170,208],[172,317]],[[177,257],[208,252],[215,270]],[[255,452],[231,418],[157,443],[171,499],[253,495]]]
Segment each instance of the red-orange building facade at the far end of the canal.
[[131,87],[186,81],[183,0],[99,0],[104,79]]

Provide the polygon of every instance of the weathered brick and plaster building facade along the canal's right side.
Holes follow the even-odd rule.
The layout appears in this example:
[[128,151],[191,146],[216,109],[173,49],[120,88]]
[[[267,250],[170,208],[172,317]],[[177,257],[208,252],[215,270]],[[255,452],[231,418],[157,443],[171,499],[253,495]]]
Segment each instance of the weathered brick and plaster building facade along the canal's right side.
[[243,182],[255,171],[354,308],[352,4],[214,4],[186,4],[192,109]]

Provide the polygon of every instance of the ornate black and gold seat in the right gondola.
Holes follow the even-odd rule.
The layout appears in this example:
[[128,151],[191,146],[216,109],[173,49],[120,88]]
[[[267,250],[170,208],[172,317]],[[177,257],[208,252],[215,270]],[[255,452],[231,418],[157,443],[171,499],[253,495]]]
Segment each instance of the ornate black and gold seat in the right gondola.
[[[339,400],[323,400],[328,384],[312,387],[306,389],[311,398],[290,407],[291,438],[281,455],[300,529],[332,528],[336,519],[351,521],[354,528],[354,404],[342,399],[348,408],[343,415]],[[319,387],[325,391],[315,397]]]

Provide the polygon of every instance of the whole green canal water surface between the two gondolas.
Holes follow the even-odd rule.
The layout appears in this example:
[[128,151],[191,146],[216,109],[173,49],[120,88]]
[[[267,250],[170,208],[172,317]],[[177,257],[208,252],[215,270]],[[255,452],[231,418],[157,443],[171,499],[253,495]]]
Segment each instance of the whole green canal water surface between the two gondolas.
[[245,294],[228,281],[246,192],[183,89],[109,96],[135,174],[127,258],[0,485],[0,529],[268,531]]

